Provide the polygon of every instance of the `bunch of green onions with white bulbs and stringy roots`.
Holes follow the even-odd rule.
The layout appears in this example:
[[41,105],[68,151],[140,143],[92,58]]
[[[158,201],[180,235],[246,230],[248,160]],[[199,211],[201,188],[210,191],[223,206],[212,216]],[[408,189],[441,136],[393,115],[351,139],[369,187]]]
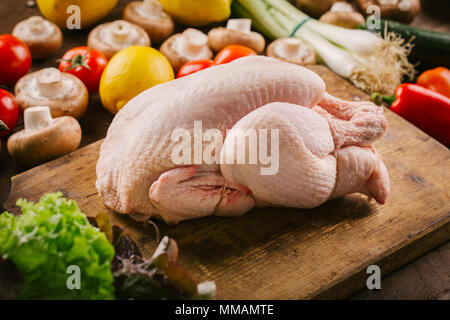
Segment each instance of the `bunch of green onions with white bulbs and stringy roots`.
[[303,40],[331,70],[366,92],[392,94],[405,76],[414,77],[407,58],[412,46],[393,33],[383,39],[370,31],[322,23],[286,0],[234,0],[232,6],[235,15],[252,19],[268,38]]

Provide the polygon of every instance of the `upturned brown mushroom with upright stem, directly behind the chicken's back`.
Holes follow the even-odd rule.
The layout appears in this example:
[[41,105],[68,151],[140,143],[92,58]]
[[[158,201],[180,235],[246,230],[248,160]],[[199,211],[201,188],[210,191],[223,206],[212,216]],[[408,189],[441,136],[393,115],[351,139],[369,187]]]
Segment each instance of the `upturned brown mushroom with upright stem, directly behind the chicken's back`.
[[209,45],[216,52],[228,45],[238,44],[261,53],[266,41],[258,32],[250,31],[251,25],[250,19],[230,19],[226,28],[214,28],[208,33]]

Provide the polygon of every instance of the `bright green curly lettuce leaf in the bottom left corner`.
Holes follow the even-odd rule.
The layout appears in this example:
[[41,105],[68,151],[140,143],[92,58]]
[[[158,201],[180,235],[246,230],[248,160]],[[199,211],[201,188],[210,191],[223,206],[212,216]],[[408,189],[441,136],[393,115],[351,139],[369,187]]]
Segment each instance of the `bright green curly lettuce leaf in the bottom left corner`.
[[[19,199],[22,215],[0,215],[0,255],[25,281],[16,298],[113,299],[113,246],[75,201],[61,196],[47,194],[38,203]],[[81,272],[81,289],[67,286],[73,265]]]

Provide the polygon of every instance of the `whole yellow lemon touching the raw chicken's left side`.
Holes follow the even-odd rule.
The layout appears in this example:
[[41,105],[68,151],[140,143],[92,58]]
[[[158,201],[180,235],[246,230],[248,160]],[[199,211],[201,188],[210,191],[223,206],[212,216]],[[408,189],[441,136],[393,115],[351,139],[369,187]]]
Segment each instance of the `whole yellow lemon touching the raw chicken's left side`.
[[103,106],[117,113],[142,91],[174,79],[172,66],[158,50],[133,46],[116,53],[100,79]]

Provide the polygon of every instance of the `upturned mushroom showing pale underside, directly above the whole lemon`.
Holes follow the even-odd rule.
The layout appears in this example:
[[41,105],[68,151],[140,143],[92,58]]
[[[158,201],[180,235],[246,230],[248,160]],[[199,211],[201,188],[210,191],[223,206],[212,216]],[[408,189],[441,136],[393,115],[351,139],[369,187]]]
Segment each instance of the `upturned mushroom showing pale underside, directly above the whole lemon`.
[[88,37],[89,48],[103,53],[108,59],[131,46],[150,46],[144,29],[125,20],[116,20],[95,27]]

